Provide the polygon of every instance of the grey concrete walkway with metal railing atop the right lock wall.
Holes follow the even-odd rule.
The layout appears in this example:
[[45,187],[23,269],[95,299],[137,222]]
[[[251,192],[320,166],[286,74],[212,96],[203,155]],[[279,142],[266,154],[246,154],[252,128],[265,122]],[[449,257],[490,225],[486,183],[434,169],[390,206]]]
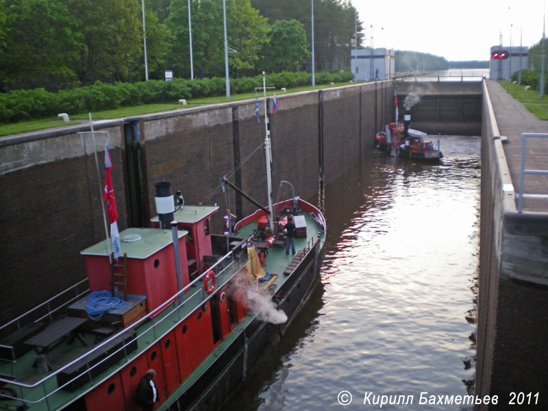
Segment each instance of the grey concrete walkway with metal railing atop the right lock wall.
[[[521,173],[521,133],[547,133],[548,121],[539,120],[525,105],[514,99],[498,82],[487,80],[487,89],[495,111],[495,117],[501,136],[506,136],[508,142],[504,147],[510,178],[514,185],[516,196],[520,190]],[[546,97],[548,102],[548,96]],[[527,140],[527,157],[525,169],[548,170],[548,139]],[[525,193],[548,195],[548,176],[525,176]],[[517,199],[516,199],[517,207]],[[548,212],[547,199],[525,199],[525,211]]]

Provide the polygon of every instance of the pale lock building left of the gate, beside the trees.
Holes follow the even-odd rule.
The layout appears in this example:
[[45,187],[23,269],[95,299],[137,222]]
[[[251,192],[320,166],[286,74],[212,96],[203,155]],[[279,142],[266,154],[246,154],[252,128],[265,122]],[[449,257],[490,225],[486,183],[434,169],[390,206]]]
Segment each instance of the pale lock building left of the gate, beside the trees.
[[350,56],[350,68],[356,82],[386,80],[394,76],[394,49],[352,49]]

